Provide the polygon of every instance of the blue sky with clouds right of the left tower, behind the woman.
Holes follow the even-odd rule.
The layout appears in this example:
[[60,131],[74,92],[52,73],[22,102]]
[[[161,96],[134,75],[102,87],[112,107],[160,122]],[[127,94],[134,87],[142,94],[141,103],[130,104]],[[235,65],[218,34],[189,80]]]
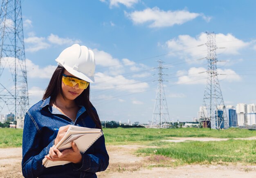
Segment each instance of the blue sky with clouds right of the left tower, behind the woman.
[[[74,43],[95,53],[91,101],[101,120],[152,120],[157,60],[170,118],[192,121],[206,84],[205,31],[216,33],[225,105],[255,103],[254,0],[22,1],[30,105],[42,98],[57,64]],[[224,48],[224,49],[223,49]],[[154,75],[155,74],[155,75]]]

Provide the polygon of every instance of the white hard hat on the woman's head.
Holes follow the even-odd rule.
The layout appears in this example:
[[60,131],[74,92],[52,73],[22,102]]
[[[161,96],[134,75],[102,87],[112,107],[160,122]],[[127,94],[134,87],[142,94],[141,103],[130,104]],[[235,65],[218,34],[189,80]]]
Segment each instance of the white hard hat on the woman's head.
[[73,44],[64,49],[56,59],[69,73],[87,82],[94,82],[94,53],[86,46]]

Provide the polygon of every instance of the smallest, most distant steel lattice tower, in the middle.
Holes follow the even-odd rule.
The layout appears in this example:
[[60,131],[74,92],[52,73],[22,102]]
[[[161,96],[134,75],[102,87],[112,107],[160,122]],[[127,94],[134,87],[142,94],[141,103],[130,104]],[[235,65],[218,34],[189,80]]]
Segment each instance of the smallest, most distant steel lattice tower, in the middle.
[[166,69],[163,67],[162,60],[157,61],[159,63],[157,69],[158,69],[158,86],[157,86],[157,93],[155,98],[155,106],[153,111],[153,117],[151,122],[151,128],[157,127],[157,128],[166,128],[170,125],[171,121],[169,118],[169,112],[167,107],[167,102],[165,98],[164,93],[164,86],[163,86],[163,69]]

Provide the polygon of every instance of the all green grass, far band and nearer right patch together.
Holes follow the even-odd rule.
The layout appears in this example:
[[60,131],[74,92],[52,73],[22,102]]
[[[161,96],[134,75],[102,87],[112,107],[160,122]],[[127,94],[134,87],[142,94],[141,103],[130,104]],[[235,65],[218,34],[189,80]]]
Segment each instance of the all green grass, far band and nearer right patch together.
[[[0,148],[21,147],[22,129],[0,128]],[[256,131],[230,128],[226,130],[180,128],[103,129],[106,145],[145,145],[137,154],[148,156],[155,166],[183,164],[246,163],[256,165],[256,140],[234,140],[233,138],[255,137]],[[214,137],[230,138],[227,141],[162,142],[170,137]]]

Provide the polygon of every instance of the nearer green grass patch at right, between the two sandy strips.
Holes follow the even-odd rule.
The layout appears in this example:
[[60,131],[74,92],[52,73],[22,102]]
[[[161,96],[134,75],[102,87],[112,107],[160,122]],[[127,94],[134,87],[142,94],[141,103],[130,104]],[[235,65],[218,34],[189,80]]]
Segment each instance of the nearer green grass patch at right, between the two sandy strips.
[[155,142],[153,145],[157,147],[139,149],[137,153],[151,156],[153,160],[158,158],[160,165],[163,159],[165,166],[229,162],[256,165],[256,140]]

